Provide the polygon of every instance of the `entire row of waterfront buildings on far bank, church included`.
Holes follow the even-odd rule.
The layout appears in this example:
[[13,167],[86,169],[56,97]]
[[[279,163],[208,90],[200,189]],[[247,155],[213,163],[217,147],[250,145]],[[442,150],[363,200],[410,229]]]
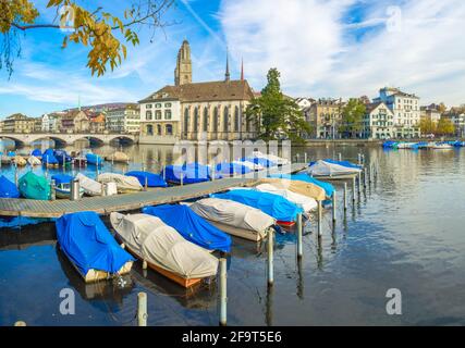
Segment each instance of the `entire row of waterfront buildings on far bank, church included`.
[[[254,139],[257,137],[256,124],[247,120],[245,111],[258,95],[244,78],[243,69],[240,79],[231,79],[228,58],[223,79],[194,83],[191,47],[184,40],[178,52],[174,84],[162,87],[138,103],[77,108],[39,119],[14,114],[0,123],[0,130],[127,133],[138,134],[142,144]],[[357,129],[355,136],[358,138],[418,138],[421,135],[420,120],[438,123],[441,117],[451,120],[457,135],[465,133],[465,108],[445,112],[436,104],[421,107],[419,97],[391,87],[381,88],[372,100],[366,96],[358,99],[366,109],[363,120],[353,127]],[[346,101],[297,98],[295,102],[311,126],[309,138],[347,136],[342,116]]]

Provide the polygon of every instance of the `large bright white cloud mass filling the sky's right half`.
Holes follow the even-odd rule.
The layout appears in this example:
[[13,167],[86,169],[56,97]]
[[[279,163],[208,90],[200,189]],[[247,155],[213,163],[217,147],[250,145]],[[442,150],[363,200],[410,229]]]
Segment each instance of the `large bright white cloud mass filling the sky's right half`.
[[[400,32],[384,25],[390,2],[370,7],[358,24],[344,24],[355,3],[223,0],[220,21],[257,87],[276,66],[283,87],[294,95],[375,96],[389,84],[424,102],[465,100],[464,1],[404,1]],[[354,30],[360,28],[371,30],[356,39]]]

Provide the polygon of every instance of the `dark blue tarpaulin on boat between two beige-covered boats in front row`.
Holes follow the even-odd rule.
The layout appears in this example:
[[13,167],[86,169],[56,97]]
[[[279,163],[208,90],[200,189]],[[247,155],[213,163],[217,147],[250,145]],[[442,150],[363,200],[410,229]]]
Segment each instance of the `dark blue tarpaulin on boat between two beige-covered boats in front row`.
[[197,215],[184,204],[147,207],[144,214],[158,216],[167,225],[176,229],[186,240],[208,250],[230,252],[231,237]]

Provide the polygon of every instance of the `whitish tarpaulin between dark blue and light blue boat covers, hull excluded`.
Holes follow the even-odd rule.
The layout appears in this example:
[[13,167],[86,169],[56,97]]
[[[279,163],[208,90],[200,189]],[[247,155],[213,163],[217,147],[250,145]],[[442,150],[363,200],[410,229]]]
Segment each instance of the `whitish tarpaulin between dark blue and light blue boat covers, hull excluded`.
[[261,210],[229,199],[205,198],[189,206],[201,217],[236,228],[252,231],[264,237],[276,220]]

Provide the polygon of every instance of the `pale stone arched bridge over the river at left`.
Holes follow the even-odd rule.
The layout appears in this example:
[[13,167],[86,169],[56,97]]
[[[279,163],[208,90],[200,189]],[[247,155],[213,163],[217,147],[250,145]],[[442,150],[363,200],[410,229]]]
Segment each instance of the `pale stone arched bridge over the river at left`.
[[111,141],[137,142],[138,136],[132,134],[98,134],[98,133],[0,133],[0,139],[11,139],[16,146],[27,146],[37,140],[53,140],[56,145],[72,145],[77,140],[87,139],[94,144],[107,145]]

